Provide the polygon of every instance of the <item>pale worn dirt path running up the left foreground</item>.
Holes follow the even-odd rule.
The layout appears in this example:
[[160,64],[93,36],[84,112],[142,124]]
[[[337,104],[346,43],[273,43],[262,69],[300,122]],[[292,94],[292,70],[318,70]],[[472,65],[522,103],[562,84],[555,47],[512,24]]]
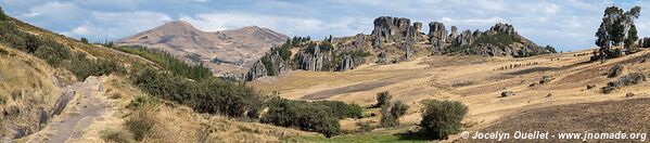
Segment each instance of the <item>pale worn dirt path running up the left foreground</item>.
[[97,77],[88,77],[85,82],[77,82],[68,87],[77,93],[77,102],[73,103],[76,105],[69,106],[78,106],[78,113],[62,122],[52,122],[51,126],[55,127],[55,133],[46,142],[63,143],[69,139],[80,138],[79,131],[86,129],[95,118],[104,114],[104,103],[99,102],[100,100],[94,95],[103,90],[100,87],[100,80]]

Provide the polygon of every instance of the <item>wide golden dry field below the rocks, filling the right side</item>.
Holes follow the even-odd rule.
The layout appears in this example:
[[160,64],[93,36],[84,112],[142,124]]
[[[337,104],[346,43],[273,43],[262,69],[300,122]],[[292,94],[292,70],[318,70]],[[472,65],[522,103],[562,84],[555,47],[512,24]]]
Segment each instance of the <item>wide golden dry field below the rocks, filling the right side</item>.
[[[624,87],[609,94],[601,93],[600,88],[617,78],[606,76],[608,70],[615,65],[625,67],[622,75],[627,73],[647,75],[650,72],[650,62],[642,61],[650,57],[650,51],[643,50],[624,57],[609,60],[606,63],[589,63],[590,54],[588,53],[590,52],[590,50],[585,50],[525,58],[430,56],[393,65],[369,64],[344,73],[294,70],[279,77],[264,77],[251,84],[265,92],[279,93],[280,96],[286,99],[334,100],[360,105],[374,104],[378,92],[388,91],[393,95],[393,101],[403,101],[411,106],[407,115],[402,118],[403,125],[411,128],[415,128],[421,120],[420,108],[422,105],[419,103],[420,101],[429,99],[460,101],[469,106],[469,113],[463,122],[473,125],[467,129],[470,132],[488,127],[508,127],[511,121],[524,120],[537,120],[537,122],[528,121],[527,123],[541,125],[530,126],[524,121],[514,127],[521,127],[521,130],[549,129],[538,127],[559,126],[555,123],[555,120],[565,120],[576,116],[571,112],[603,109],[596,106],[612,106],[611,109],[615,110],[620,107],[620,102],[612,101],[622,101],[634,104],[629,106],[640,107],[641,110],[647,109],[647,105],[650,103],[637,102],[637,100],[650,96],[650,88],[648,88],[650,83],[648,82]],[[540,84],[539,81],[544,76],[548,76],[552,80]],[[587,89],[588,84],[594,84],[596,88]],[[515,95],[501,98],[504,91],[513,91]],[[636,95],[625,98],[627,93]],[[594,108],[590,108],[590,106],[578,103],[595,104]],[[559,113],[564,110],[558,109],[571,108],[569,106],[582,109]],[[532,116],[531,112],[544,114]],[[633,113],[636,112],[628,112],[628,114]],[[539,116],[545,115],[553,118],[540,120]],[[581,114],[578,117],[595,120],[627,119],[621,116],[611,118],[612,116],[599,113]],[[379,122],[378,117],[361,120]],[[357,121],[359,120],[342,120],[342,129],[357,130],[355,126]],[[564,123],[574,125],[579,120],[568,121]],[[615,123],[615,121],[613,122]],[[590,128],[598,127],[591,126]],[[588,130],[588,128],[584,129]],[[395,131],[395,133],[398,132],[403,131]],[[450,138],[451,140],[447,141],[462,141],[459,135]]]

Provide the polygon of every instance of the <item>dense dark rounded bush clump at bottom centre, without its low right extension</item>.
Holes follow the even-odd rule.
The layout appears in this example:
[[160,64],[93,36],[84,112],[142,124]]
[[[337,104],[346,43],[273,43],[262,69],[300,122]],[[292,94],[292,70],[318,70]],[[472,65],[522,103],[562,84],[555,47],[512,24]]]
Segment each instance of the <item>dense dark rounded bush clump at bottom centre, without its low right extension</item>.
[[281,127],[296,127],[301,130],[316,131],[330,138],[339,134],[339,119],[328,112],[329,107],[305,101],[272,99],[269,110],[262,122]]

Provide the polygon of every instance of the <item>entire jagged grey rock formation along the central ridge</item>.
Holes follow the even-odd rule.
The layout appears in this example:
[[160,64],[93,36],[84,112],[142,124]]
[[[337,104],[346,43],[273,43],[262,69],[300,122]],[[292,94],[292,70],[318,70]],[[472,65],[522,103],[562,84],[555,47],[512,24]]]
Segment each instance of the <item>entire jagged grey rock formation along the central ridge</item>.
[[450,26],[448,31],[443,23],[432,22],[429,34],[423,34],[422,23],[381,16],[374,20],[373,26],[370,35],[330,36],[323,41],[292,43],[294,53],[290,53],[290,60],[277,62],[282,60],[279,55],[267,55],[266,62],[259,60],[251,67],[246,79],[281,74],[284,69],[345,72],[367,61],[388,64],[432,54],[524,57],[550,53],[549,48],[538,47],[521,37],[509,24],[495,24],[485,31],[459,31],[456,26]]

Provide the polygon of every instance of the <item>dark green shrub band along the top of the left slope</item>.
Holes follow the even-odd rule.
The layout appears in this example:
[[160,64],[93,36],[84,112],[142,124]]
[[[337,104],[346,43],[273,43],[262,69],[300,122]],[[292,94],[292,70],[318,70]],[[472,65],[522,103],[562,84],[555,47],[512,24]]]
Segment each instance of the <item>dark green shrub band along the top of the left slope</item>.
[[71,52],[69,48],[51,38],[22,31],[15,25],[16,22],[1,11],[0,20],[0,42],[42,58],[52,67],[63,67],[75,74],[78,80],[123,69],[122,65],[113,61],[89,58],[85,53]]

